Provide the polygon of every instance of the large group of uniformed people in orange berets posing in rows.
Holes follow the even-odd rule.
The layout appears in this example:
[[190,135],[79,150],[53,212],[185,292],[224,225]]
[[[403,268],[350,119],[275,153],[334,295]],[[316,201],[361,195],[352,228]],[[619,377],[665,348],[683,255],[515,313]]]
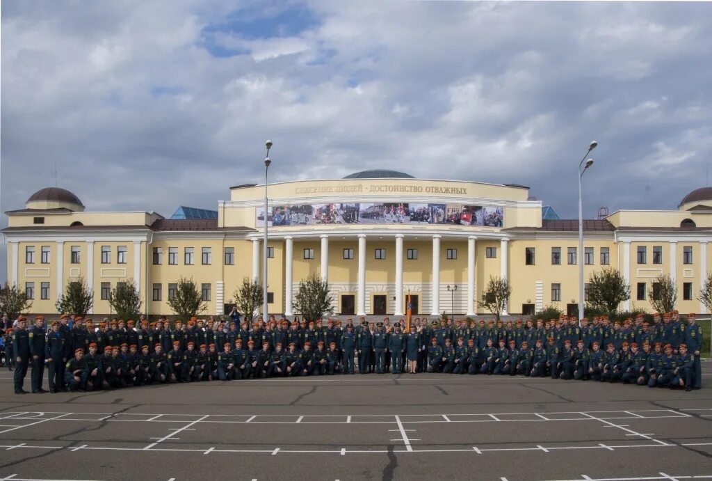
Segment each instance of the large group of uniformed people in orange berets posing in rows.
[[408,327],[347,319],[149,323],[63,314],[46,329],[42,316],[26,326],[20,316],[6,343],[15,393],[31,367],[31,390],[51,393],[125,388],[151,383],[228,381],[335,373],[509,374],[639,386],[701,387],[703,334],[694,314],[654,315],[622,324],[607,316],[543,321],[414,319]]

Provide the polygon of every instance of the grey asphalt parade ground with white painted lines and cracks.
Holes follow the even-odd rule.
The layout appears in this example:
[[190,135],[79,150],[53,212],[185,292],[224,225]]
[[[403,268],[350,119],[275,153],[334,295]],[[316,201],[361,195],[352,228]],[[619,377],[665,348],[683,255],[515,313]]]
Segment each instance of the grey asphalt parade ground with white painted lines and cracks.
[[11,374],[0,481],[712,479],[710,362],[691,392],[421,373],[15,395]]

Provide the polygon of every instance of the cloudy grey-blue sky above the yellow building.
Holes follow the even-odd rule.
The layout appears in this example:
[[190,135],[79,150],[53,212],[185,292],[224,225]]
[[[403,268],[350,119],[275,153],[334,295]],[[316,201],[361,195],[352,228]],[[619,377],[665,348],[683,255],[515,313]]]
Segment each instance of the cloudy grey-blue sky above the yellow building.
[[586,217],[674,209],[712,160],[711,4],[23,0],[1,41],[3,211],[55,166],[88,210],[215,208],[267,138],[273,180],[515,182],[570,218],[592,139]]

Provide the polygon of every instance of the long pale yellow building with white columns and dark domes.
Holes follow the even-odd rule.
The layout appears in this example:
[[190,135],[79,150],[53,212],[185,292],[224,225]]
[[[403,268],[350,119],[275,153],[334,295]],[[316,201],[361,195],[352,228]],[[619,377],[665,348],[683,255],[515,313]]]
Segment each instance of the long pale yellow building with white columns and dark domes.
[[[679,210],[620,210],[586,220],[543,219],[528,187],[415,179],[390,170],[332,180],[231,187],[215,218],[165,219],[155,212],[87,212],[71,192],[47,188],[6,212],[8,279],[31,292],[33,311],[54,313],[72,279],[93,289],[93,314],[110,314],[108,291],[134,279],[147,314],[172,314],[180,276],[201,286],[209,314],[224,314],[244,276],[261,277],[268,222],[270,314],[293,312],[300,279],[328,279],[340,314],[486,314],[478,309],[489,276],[506,276],[508,314],[544,306],[575,311],[578,262],[585,279],[616,267],[631,286],[622,309],[651,310],[647,292],[662,273],[678,285],[678,309],[696,300],[712,234],[712,188],[690,192]],[[210,216],[209,216],[210,217]]]

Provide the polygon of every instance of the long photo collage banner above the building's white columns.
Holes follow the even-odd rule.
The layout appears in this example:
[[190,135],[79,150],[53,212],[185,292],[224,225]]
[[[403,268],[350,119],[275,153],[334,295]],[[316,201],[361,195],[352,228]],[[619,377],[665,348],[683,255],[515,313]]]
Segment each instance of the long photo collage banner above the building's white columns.
[[[257,227],[264,225],[257,209]],[[504,227],[504,208],[462,204],[294,204],[268,209],[268,227],[318,224],[460,224]]]

